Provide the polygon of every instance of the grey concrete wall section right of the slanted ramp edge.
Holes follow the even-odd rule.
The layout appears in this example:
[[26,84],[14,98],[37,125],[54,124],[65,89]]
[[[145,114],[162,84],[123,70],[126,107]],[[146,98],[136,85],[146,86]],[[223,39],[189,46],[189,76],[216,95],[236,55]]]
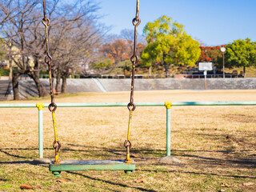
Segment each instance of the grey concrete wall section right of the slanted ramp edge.
[[[99,79],[108,91],[130,90],[130,79]],[[256,78],[209,78],[207,90],[256,89]],[[204,90],[203,78],[135,79],[134,90]]]

